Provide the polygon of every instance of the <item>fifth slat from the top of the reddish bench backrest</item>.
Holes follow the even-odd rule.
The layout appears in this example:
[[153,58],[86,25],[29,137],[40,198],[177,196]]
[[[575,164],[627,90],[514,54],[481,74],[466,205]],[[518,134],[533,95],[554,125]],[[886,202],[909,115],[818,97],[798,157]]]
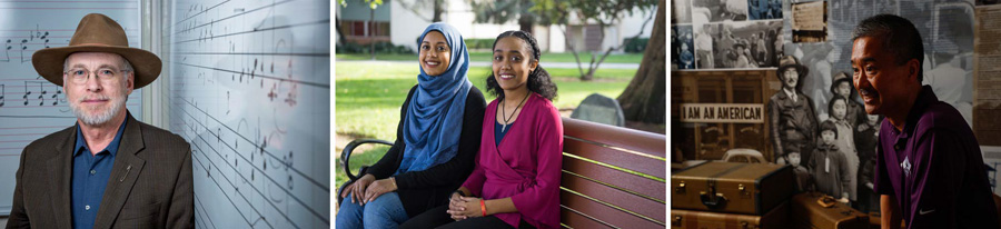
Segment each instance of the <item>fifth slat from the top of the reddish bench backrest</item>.
[[[599,202],[595,202],[587,198],[581,197],[573,192],[567,192],[565,190],[559,191],[559,202],[561,205],[577,210],[587,216],[594,217],[595,219],[602,220],[612,225],[613,227],[618,228],[664,228],[664,225],[660,225],[618,209],[614,209],[612,207],[602,205]],[[564,221],[565,223],[567,221]],[[574,226],[571,226],[574,227]]]

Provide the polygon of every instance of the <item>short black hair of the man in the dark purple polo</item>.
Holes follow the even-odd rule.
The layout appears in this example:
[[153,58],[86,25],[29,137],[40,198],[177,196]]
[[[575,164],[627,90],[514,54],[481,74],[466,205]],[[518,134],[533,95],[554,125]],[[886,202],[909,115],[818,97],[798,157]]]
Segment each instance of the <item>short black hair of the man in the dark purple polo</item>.
[[924,43],[921,32],[910,20],[894,14],[866,18],[852,31],[852,42],[864,37],[883,38],[883,51],[893,53],[898,66],[918,59],[918,82],[924,79]]

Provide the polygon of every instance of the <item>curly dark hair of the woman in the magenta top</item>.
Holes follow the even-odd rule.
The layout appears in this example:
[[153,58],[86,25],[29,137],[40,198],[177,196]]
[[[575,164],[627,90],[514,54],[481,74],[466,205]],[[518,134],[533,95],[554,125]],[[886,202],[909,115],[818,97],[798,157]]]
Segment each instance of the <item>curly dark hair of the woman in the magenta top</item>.
[[[521,30],[511,30],[506,32],[502,32],[497,36],[497,39],[494,40],[494,46],[490,49],[497,47],[497,41],[502,38],[506,37],[516,37],[521,38],[525,43],[532,47],[532,60],[539,61],[541,51],[538,50],[538,42],[535,41],[535,38],[532,37],[532,33]],[[490,71],[489,77],[487,77],[486,90],[490,94],[497,97],[497,99],[504,99],[504,90],[500,89],[500,84],[497,83],[497,79],[494,79],[494,71]],[[535,68],[534,71],[528,73],[528,91],[538,93],[539,96],[553,101],[556,99],[556,83],[553,82],[553,79],[549,77],[549,72],[542,68],[542,64]]]

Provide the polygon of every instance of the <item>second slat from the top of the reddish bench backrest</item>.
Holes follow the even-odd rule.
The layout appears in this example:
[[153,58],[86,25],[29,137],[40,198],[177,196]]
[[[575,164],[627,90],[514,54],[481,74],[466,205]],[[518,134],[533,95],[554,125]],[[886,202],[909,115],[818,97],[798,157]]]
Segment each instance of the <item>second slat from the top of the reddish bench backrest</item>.
[[645,175],[665,179],[667,162],[621,150],[596,146],[589,142],[564,138],[563,151],[594,161],[616,166]]

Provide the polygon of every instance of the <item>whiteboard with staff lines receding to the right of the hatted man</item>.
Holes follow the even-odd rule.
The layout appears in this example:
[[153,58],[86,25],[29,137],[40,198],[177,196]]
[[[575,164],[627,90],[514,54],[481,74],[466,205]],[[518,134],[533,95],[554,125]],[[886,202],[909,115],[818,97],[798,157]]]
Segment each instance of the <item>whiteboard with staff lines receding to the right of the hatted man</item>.
[[330,2],[176,0],[170,130],[191,143],[198,228],[330,227]]

